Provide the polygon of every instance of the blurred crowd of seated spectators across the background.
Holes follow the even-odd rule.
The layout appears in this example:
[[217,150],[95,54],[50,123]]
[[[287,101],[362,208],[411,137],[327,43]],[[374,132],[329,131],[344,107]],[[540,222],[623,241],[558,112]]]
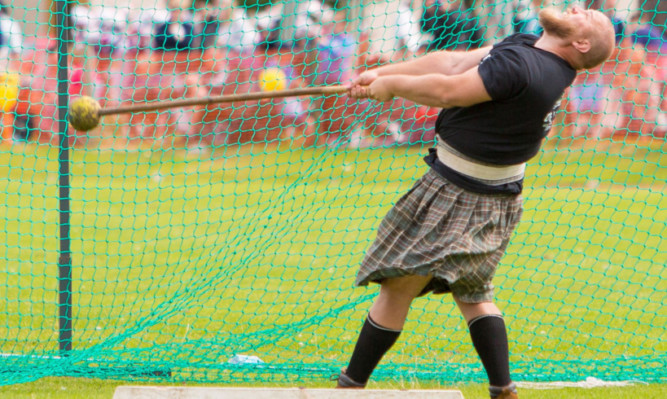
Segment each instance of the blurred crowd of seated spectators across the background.
[[[362,18],[318,0],[281,2],[257,13],[232,0],[156,1],[150,9],[70,10],[70,98],[89,95],[109,107],[345,84],[368,68],[430,51],[489,45],[500,33],[540,35],[537,14],[550,5],[515,0],[509,32],[490,32],[490,15],[484,15],[489,8],[474,0],[383,2],[367,7]],[[556,134],[664,138],[664,21],[656,21],[657,12],[621,17],[615,0],[581,4],[612,18],[617,48],[598,69],[578,75],[561,106]],[[56,140],[58,48],[53,30],[42,37],[28,43],[0,5],[2,140]],[[189,149],[276,140],[299,146],[410,145],[433,140],[437,112],[402,99],[377,104],[346,96],[300,97],[107,117],[101,130],[128,142]],[[73,145],[104,135],[70,133]]]

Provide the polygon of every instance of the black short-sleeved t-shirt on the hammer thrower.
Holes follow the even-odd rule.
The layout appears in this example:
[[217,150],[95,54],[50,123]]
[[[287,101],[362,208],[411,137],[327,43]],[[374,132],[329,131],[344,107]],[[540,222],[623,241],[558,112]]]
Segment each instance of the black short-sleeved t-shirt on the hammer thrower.
[[[563,92],[576,76],[564,59],[535,48],[537,39],[518,33],[493,46],[478,68],[492,100],[443,109],[435,127],[440,140],[469,158],[493,165],[519,164],[537,154]],[[433,166],[433,161],[427,159],[427,163]],[[516,188],[475,191],[512,193]]]

